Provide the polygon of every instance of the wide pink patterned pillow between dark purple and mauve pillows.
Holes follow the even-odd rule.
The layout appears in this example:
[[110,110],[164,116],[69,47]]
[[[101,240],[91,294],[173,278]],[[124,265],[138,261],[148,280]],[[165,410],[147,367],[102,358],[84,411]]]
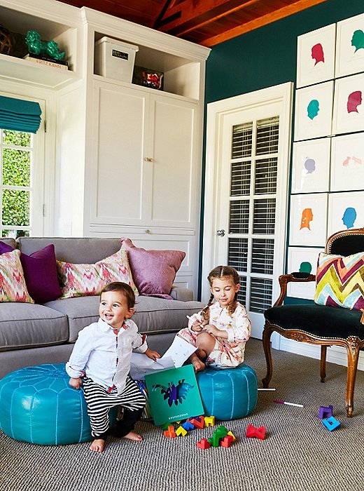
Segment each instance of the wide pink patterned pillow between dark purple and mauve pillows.
[[99,295],[102,288],[113,281],[127,283],[138,295],[127,260],[127,252],[123,249],[95,264],[57,261],[57,271],[63,285],[61,298]]

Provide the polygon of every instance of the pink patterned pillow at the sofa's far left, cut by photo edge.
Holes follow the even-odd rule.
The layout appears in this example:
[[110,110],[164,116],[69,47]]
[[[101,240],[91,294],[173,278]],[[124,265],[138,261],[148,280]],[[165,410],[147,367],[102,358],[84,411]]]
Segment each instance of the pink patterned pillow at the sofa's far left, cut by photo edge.
[[25,284],[18,249],[0,255],[0,302],[34,304]]

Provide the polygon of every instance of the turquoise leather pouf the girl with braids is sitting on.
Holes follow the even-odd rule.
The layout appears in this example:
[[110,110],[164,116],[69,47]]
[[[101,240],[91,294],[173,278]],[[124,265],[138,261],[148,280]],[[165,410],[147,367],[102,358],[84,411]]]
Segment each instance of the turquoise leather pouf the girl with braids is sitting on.
[[196,374],[204,412],[221,421],[249,415],[258,400],[258,381],[253,368],[241,363],[237,368],[206,368]]

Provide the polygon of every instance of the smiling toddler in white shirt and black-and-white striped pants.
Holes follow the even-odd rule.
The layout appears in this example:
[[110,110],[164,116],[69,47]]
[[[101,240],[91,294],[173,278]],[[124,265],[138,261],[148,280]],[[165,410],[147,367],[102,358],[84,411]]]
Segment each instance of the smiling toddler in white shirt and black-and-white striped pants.
[[154,361],[160,358],[151,351],[146,336],[130,320],[134,314],[135,295],[126,283],[109,283],[102,290],[99,321],[78,333],[66,372],[69,384],[80,389],[82,384],[90,416],[93,452],[104,450],[109,434],[109,409],[123,406],[123,419],[116,424],[116,436],[142,440],[134,433],[134,424],[146,403],[137,384],[129,377],[132,350],[144,353]]

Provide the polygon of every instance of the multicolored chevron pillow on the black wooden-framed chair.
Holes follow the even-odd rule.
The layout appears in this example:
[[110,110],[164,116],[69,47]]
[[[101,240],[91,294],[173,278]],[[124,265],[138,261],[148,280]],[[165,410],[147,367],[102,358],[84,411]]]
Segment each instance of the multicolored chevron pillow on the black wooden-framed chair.
[[320,305],[364,309],[364,253],[346,257],[320,253],[314,301]]

